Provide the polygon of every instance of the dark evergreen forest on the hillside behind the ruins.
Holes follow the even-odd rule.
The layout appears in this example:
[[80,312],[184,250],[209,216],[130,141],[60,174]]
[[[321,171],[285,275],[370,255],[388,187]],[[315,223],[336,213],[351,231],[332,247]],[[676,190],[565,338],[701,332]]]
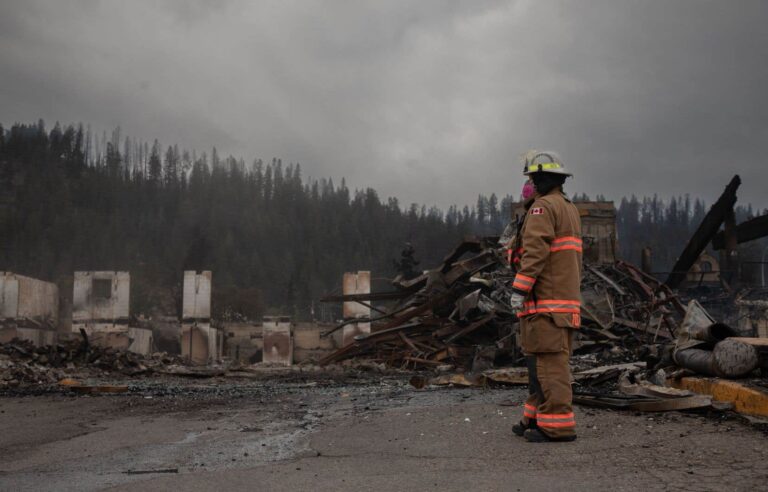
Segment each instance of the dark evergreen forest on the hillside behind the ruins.
[[[178,313],[182,271],[206,269],[219,318],[306,318],[345,271],[393,277],[406,243],[428,268],[464,235],[498,234],[512,201],[403,207],[343,179],[307,181],[279,159],[198,155],[119,129],[96,137],[82,125],[0,126],[0,269],[53,280],[64,299],[75,270],[128,270],[134,314]],[[624,258],[636,262],[650,245],[657,269],[668,268],[704,212],[687,198],[623,200]]]

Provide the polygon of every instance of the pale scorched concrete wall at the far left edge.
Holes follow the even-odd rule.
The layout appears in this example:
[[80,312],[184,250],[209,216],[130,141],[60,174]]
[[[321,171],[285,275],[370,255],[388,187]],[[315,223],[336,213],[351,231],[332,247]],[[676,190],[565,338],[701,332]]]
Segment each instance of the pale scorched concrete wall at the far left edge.
[[56,327],[59,319],[59,288],[12,272],[0,272],[0,319],[47,321]]

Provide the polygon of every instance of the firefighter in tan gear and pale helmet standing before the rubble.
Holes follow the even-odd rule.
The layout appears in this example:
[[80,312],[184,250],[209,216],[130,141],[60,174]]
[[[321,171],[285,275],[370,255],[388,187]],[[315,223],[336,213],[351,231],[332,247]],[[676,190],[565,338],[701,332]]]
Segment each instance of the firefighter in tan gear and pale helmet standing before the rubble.
[[528,365],[529,397],[512,431],[530,442],[573,441],[571,354],[573,330],[581,324],[581,219],[563,193],[572,176],[554,152],[530,151],[524,174],[536,194],[526,202],[517,235],[517,274],[510,305],[520,319]]

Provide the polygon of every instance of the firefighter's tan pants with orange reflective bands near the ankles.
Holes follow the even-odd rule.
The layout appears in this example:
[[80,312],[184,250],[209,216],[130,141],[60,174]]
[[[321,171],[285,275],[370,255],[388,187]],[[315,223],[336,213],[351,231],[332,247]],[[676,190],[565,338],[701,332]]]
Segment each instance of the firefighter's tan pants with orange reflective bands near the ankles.
[[573,332],[555,325],[548,314],[534,314],[520,320],[523,352],[528,363],[529,396],[523,409],[523,423],[535,421],[550,437],[576,433],[571,391]]

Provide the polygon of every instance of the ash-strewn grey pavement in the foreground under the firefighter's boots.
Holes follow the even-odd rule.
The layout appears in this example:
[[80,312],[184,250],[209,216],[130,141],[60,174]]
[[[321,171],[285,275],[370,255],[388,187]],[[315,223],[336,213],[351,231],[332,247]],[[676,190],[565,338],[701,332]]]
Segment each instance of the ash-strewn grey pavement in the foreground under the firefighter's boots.
[[525,388],[405,374],[119,378],[0,397],[2,490],[747,490],[768,442],[728,414],[576,408],[579,439],[512,435]]

